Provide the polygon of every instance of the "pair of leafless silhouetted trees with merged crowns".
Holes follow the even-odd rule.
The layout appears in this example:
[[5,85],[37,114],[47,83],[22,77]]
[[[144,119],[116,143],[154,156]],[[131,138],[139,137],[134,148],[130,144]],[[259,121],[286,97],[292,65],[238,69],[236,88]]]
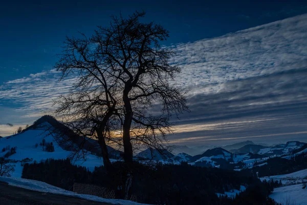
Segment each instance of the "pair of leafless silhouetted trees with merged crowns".
[[107,143],[122,146],[128,170],[134,148],[164,149],[170,117],[188,110],[174,81],[181,69],[169,64],[174,52],[160,44],[168,31],[141,23],[144,15],[113,16],[109,27],[98,27],[90,38],[67,37],[55,66],[62,77],[78,76],[72,93],[57,101],[57,112],[74,131],[98,139],[104,161]]

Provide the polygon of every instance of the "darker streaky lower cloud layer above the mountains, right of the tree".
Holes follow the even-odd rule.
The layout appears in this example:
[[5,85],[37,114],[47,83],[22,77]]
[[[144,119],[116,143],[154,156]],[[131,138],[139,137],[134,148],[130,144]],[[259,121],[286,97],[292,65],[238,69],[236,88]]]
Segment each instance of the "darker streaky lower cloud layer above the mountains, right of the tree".
[[170,142],[185,144],[190,140],[189,144],[196,146],[246,138],[272,144],[307,141],[305,76],[307,69],[280,72],[229,81],[215,85],[218,92],[193,95],[188,100],[191,113],[177,121]]

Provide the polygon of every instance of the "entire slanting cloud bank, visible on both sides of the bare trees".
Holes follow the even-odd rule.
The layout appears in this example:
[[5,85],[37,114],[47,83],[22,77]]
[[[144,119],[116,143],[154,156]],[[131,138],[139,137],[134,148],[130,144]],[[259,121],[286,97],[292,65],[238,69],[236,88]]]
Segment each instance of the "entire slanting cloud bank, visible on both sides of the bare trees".
[[[307,14],[172,48],[177,55],[170,61],[182,68],[176,83],[189,90],[191,113],[173,119],[170,142],[306,141]],[[52,111],[52,99],[75,81],[59,75],[53,69],[0,86],[3,106],[21,116],[10,122],[29,124]]]

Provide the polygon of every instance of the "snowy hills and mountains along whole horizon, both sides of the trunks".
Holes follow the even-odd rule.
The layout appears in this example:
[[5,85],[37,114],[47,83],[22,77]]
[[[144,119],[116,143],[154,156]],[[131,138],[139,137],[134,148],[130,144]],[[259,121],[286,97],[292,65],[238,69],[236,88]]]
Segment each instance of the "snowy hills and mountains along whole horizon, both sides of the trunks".
[[[49,131],[52,131],[52,134]],[[43,139],[48,143],[53,142],[54,152],[47,152],[41,146]],[[85,141],[83,139],[83,137],[76,135],[55,118],[44,116],[21,133],[0,138],[0,151],[2,151],[0,157],[5,156],[8,149],[16,147],[16,153],[7,156],[9,159],[17,161],[22,161],[26,158],[36,161],[48,158],[64,159],[71,154],[73,149],[84,143],[84,149],[89,155],[85,162],[79,161],[77,163],[82,165],[85,163],[92,169],[95,166],[101,166],[102,159],[99,158],[101,150],[97,141],[87,137]],[[67,143],[67,141],[71,141],[72,144]],[[108,152],[113,161],[121,159],[121,151],[108,146]],[[174,146],[171,151],[146,149],[138,153],[134,159],[140,162],[144,160],[155,160],[162,163],[187,162],[193,166],[242,170],[262,166],[269,157],[291,158],[301,153],[307,153],[307,144],[300,141],[263,146],[256,145],[248,140],[224,147],[200,146],[189,148],[187,146]]]

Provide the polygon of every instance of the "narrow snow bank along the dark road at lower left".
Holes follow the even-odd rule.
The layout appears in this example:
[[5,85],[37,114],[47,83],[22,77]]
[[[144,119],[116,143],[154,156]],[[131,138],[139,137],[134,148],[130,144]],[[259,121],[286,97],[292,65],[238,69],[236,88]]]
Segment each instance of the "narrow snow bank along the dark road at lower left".
[[122,200],[122,199],[105,199],[98,196],[85,195],[85,194],[77,194],[71,191],[67,191],[58,187],[54,187],[49,185],[48,183],[23,179],[23,178],[15,178],[15,177],[3,177],[0,176],[0,181],[8,182],[9,185],[20,187],[28,190],[43,192],[43,193],[51,193],[51,194],[59,194],[64,196],[72,196],[77,198],[82,198],[86,200],[92,200],[97,202],[104,202],[109,204],[122,204],[122,205],[142,205],[144,203],[137,203],[134,201]]

